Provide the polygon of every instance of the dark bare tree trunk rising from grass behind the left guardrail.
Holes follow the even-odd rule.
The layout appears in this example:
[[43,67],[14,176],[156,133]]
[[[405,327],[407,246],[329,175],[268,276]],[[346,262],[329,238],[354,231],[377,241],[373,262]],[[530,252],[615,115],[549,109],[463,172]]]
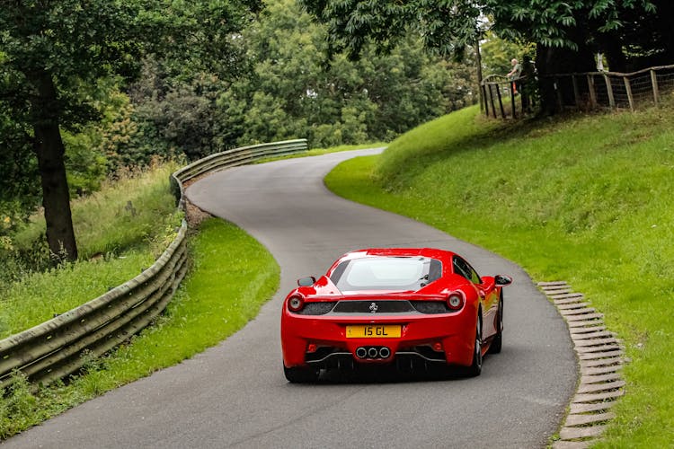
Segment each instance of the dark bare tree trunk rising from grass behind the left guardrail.
[[42,206],[47,222],[49,251],[56,260],[76,260],[77,246],[70,214],[70,192],[64,163],[65,147],[58,128],[57,92],[46,72],[26,74],[37,95],[31,102],[34,149],[42,183]]

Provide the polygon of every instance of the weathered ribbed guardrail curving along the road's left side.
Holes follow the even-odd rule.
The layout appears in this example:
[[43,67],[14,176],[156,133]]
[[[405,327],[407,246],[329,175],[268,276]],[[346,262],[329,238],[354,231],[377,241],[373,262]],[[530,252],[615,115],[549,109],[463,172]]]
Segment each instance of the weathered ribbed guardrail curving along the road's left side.
[[[244,146],[191,163],[173,172],[171,184],[184,209],[186,180],[263,158],[306,151],[306,139]],[[90,357],[102,356],[164,311],[187,271],[187,223],[164,253],[140,275],[86,304],[29,330],[0,340],[0,389],[14,370],[32,383],[51,383],[80,370]]]

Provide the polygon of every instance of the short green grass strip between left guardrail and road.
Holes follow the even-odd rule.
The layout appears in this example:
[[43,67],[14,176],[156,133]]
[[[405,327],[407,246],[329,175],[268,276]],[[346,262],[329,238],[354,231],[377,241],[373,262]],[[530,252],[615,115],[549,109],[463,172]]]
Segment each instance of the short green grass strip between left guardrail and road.
[[155,326],[90,360],[86,373],[67,385],[33,393],[17,382],[0,398],[0,438],[216,345],[253,319],[279,286],[270,253],[235,225],[208,219],[191,252],[194,269]]

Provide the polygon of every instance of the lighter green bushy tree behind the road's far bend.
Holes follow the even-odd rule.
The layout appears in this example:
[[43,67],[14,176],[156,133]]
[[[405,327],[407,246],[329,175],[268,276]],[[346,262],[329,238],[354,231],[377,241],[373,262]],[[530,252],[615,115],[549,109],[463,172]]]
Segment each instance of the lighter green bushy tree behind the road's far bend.
[[422,51],[417,35],[388,53],[371,44],[359,60],[343,52],[324,64],[326,26],[296,0],[275,0],[242,32],[253,74],[217,101],[226,145],[307,137],[311,145],[388,140],[475,101],[463,64]]

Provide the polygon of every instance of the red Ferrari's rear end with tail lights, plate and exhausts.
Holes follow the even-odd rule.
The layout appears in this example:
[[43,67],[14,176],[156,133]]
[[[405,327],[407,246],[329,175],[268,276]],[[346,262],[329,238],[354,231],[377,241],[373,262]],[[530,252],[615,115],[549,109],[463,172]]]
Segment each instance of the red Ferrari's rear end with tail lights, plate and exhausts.
[[287,368],[470,365],[475,303],[452,295],[289,295],[281,317]]

